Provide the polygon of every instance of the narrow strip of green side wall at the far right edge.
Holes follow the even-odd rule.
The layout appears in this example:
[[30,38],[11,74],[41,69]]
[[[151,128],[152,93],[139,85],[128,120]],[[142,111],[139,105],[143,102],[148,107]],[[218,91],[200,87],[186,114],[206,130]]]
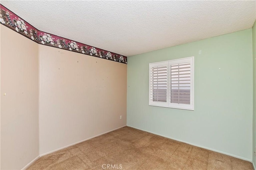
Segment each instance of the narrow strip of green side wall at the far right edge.
[[[256,21],[252,27],[252,62],[253,62],[253,147],[252,150],[256,152]],[[252,153],[252,162],[256,166],[256,156]]]

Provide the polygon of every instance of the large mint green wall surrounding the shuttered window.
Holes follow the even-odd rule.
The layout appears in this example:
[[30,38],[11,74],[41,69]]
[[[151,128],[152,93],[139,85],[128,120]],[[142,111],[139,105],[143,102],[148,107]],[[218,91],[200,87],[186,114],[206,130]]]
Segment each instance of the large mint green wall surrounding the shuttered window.
[[[191,56],[194,111],[148,106],[149,63]],[[252,29],[131,56],[127,69],[128,126],[252,160]]]

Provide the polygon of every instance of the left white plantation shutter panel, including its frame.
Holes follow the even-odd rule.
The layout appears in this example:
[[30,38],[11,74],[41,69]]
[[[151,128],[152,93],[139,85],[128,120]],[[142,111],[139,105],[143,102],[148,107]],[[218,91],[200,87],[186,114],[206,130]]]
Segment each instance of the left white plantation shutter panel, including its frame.
[[150,104],[168,106],[168,62],[150,65]]

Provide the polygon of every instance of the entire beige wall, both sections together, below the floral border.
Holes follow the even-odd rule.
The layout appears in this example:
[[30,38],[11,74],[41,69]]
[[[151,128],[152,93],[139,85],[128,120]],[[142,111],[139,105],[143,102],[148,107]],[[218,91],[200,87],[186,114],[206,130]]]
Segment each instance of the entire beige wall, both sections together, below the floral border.
[[126,125],[126,64],[0,28],[1,169]]

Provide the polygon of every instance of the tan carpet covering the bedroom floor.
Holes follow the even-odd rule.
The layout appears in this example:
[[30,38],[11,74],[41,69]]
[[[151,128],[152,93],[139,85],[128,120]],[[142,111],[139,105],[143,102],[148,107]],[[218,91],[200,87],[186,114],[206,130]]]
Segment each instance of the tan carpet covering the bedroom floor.
[[123,127],[72,147],[42,156],[28,170],[103,168],[127,170],[253,170],[251,162],[131,127]]

